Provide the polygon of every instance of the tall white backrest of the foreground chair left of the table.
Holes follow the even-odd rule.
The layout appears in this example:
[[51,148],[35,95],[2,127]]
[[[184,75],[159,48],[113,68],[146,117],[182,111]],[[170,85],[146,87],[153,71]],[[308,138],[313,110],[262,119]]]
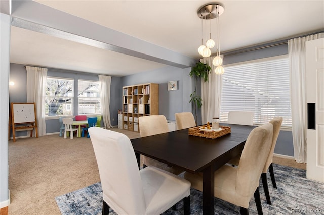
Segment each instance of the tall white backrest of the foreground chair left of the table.
[[145,214],[144,192],[130,139],[99,127],[88,131],[97,159],[103,200],[117,214]]

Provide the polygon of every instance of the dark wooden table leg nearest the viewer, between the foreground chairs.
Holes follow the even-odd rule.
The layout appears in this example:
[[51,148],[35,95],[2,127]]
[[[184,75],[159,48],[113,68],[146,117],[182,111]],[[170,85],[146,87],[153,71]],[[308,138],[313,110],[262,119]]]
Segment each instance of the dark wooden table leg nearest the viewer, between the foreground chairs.
[[203,214],[214,214],[214,168],[203,172]]

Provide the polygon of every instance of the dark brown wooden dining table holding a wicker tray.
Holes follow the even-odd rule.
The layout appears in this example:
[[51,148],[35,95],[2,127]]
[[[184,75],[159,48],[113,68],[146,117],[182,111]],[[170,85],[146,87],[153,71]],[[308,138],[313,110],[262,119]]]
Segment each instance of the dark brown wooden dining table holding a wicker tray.
[[188,129],[132,139],[140,166],[140,155],[177,166],[190,173],[203,173],[203,214],[214,214],[214,172],[239,155],[255,126],[223,124],[231,133],[216,139],[191,136]]

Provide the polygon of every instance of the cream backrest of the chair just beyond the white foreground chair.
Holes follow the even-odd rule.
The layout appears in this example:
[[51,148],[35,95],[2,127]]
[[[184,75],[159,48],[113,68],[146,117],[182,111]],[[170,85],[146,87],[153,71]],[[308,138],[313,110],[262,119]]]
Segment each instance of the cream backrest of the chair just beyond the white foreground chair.
[[164,115],[150,115],[138,118],[141,137],[169,132],[168,121]]

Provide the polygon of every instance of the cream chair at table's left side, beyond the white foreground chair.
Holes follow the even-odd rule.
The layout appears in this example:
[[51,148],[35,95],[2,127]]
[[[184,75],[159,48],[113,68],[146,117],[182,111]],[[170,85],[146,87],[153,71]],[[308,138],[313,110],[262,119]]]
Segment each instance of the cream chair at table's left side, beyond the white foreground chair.
[[[164,115],[150,115],[138,118],[141,137],[169,132],[168,121]],[[154,144],[152,142],[152,144]],[[173,174],[179,175],[183,172],[178,167],[171,167],[153,158],[143,156],[143,166],[155,166]]]

